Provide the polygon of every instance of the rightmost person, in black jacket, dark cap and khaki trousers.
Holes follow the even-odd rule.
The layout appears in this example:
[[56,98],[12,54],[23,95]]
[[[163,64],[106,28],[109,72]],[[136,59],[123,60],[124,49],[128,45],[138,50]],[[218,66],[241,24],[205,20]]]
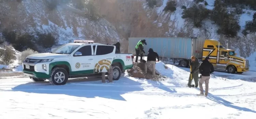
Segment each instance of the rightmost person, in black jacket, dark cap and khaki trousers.
[[207,97],[208,89],[209,89],[210,74],[214,72],[214,67],[210,63],[210,58],[208,56],[205,57],[205,60],[203,60],[203,62],[200,64],[199,72],[201,73],[200,80],[199,80],[199,88],[200,88],[199,96],[203,96],[203,82],[204,82],[205,83],[204,96]]

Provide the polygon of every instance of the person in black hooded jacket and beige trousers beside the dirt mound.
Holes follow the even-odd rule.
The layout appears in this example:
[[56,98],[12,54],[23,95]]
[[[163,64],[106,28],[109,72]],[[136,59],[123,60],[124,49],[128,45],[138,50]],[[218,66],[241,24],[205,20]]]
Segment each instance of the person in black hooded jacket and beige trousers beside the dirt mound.
[[[156,61],[157,58],[157,61]],[[147,72],[147,65],[152,65],[152,75],[155,76],[156,73],[156,62],[159,61],[159,55],[154,52],[152,48],[148,50],[147,62],[145,63],[145,72]]]

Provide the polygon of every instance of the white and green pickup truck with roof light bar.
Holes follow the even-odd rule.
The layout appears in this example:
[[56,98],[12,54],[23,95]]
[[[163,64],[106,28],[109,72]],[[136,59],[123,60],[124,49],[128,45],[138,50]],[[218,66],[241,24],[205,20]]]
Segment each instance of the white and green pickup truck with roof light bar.
[[74,40],[51,53],[32,54],[23,61],[23,73],[33,81],[46,79],[52,85],[65,85],[69,78],[97,77],[108,74],[110,65],[113,80],[133,67],[133,55],[116,53],[116,47],[89,40]]

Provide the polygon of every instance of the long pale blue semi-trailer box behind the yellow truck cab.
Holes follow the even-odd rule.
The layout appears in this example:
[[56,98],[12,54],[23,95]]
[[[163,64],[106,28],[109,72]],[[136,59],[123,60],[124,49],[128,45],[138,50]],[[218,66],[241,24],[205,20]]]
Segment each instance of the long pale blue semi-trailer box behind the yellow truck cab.
[[203,45],[205,38],[197,37],[139,37],[129,38],[128,52],[136,54],[135,46],[139,40],[145,39],[147,45],[144,45],[145,56],[150,48],[161,57],[190,59],[195,55],[202,58]]

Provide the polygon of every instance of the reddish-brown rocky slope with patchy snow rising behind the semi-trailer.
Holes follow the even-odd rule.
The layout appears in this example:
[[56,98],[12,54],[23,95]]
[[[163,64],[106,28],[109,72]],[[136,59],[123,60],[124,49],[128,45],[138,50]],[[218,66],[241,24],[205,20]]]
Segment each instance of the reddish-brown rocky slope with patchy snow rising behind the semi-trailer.
[[[128,37],[205,37],[221,41],[224,46],[237,50],[244,57],[250,56],[255,51],[255,34],[242,35],[245,21],[252,20],[256,11],[243,9],[239,17],[241,30],[238,37],[227,38],[216,33],[218,26],[210,19],[202,21],[201,28],[195,28],[188,19],[182,19],[183,5],[190,7],[194,0],[175,0],[176,11],[165,12],[163,9],[169,0],[156,0],[152,8],[147,5],[146,0],[95,0],[98,11],[105,15],[110,23],[117,28],[118,33],[126,39]],[[215,0],[205,0],[209,10],[214,8]],[[232,10],[234,8],[228,8]],[[246,46],[246,47],[245,47]]]

